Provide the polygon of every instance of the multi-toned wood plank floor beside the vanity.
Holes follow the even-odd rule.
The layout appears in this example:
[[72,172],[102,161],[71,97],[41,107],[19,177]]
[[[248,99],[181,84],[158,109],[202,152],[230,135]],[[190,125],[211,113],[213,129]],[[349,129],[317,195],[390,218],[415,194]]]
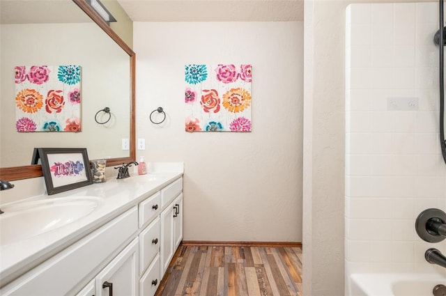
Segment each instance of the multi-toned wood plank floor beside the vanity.
[[302,296],[302,249],[180,245],[155,296]]

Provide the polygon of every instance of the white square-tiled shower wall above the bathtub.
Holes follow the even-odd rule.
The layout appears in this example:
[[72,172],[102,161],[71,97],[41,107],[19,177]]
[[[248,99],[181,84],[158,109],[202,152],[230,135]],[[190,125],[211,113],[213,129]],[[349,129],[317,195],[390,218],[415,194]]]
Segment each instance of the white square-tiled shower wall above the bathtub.
[[[426,208],[446,210],[438,139],[437,3],[352,4],[346,11],[346,268],[437,270],[415,233]],[[418,98],[388,111],[388,98]]]

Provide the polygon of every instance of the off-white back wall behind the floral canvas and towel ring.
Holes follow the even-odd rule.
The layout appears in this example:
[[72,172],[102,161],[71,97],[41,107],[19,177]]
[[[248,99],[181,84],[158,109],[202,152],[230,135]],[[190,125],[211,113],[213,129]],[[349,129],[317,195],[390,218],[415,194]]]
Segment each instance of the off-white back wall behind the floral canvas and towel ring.
[[[302,36],[302,22],[134,23],[137,155],[185,162],[185,240],[302,240]],[[251,133],[185,132],[188,63],[252,64]]]

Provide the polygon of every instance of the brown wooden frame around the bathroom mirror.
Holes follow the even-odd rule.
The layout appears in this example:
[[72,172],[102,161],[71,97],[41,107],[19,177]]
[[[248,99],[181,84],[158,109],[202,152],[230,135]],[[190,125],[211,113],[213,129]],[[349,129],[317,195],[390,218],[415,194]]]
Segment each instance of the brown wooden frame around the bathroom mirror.
[[[135,111],[134,111],[134,68],[136,63],[136,56],[132,49],[125,44],[125,42],[107,25],[107,23],[102,20],[102,18],[95,12],[86,0],[72,0],[84,10],[84,12],[91,17],[91,20],[98,24],[102,30],[107,33],[110,38],[112,38],[130,57],[130,155],[128,157],[118,157],[118,158],[107,158],[107,166],[116,166],[123,164],[124,162],[134,162],[136,160],[136,146],[135,146]],[[28,178],[36,178],[43,176],[42,166],[29,165],[29,166],[11,166],[8,168],[0,168],[0,179],[1,180],[22,180]]]

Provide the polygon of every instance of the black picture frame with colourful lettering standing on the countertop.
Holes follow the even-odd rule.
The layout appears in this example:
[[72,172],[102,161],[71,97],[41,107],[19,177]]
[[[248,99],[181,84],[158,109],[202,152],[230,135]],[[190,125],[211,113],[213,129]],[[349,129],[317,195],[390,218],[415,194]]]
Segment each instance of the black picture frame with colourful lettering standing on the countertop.
[[86,148],[38,148],[47,194],[93,184]]

